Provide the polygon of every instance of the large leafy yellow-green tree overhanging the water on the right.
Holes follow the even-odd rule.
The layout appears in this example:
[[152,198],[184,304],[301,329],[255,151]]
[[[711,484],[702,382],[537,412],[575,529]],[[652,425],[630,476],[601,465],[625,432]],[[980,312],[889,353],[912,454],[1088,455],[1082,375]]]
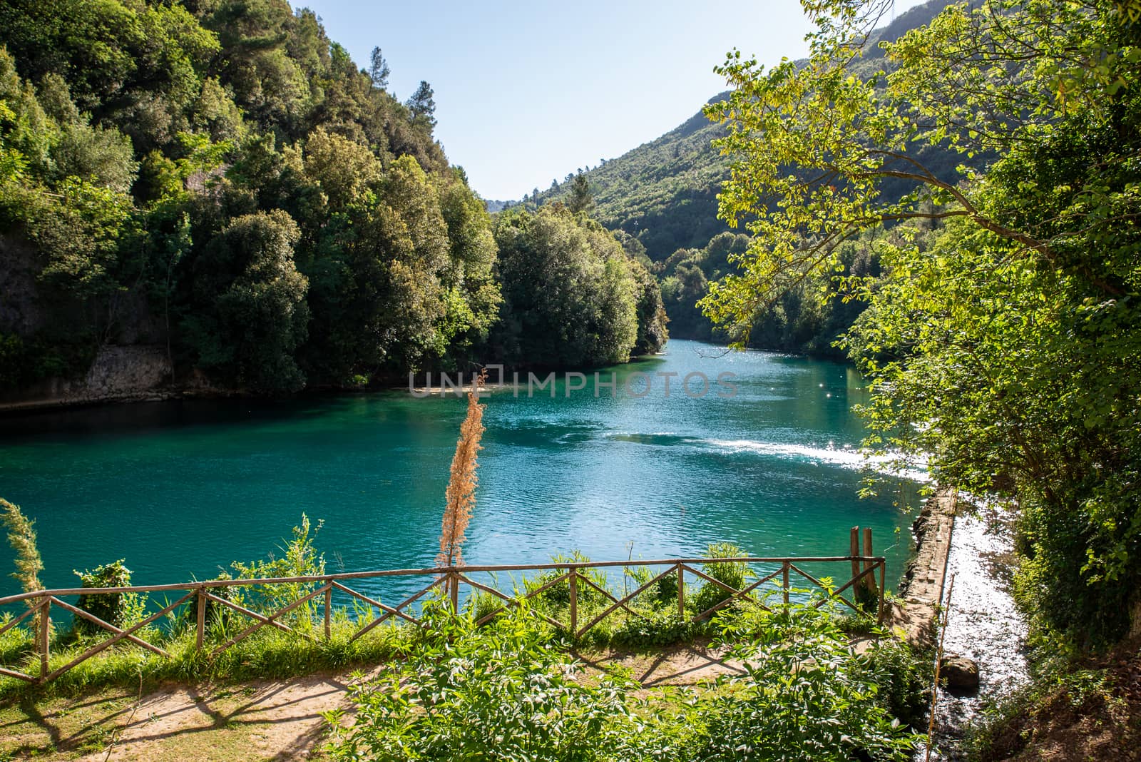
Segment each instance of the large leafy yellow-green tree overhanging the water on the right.
[[[882,278],[832,284],[868,302],[845,341],[873,379],[866,444],[1017,498],[1019,600],[1044,632],[1111,642],[1141,581],[1141,29],[1109,0],[952,6],[857,76],[888,3],[804,7],[806,65],[719,70],[736,90],[707,113],[739,155],[721,213],[754,238],[702,303],[744,343],[845,241],[893,226]],[[948,180],[923,145],[989,160]]]

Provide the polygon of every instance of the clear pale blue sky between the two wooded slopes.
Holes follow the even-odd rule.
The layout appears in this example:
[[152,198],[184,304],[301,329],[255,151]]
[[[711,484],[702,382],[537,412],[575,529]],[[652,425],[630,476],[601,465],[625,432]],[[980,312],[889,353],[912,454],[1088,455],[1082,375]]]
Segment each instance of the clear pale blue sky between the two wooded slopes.
[[[653,140],[726,89],[734,47],[806,54],[798,0],[293,0],[402,100],[428,80],[436,137],[485,198],[517,200]],[[917,0],[897,0],[897,13]]]

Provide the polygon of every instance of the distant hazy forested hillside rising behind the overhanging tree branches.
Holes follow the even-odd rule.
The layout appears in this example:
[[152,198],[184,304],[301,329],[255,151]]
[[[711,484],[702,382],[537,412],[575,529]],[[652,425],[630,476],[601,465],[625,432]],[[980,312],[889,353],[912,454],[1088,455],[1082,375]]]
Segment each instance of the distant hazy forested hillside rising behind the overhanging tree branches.
[[[882,66],[883,50],[876,47],[881,39],[895,40],[929,23],[947,2],[929,0],[877,30],[868,40],[863,68],[871,73]],[[747,48],[747,41],[743,47]],[[728,92],[721,92],[709,103],[727,96]],[[654,261],[664,260],[679,249],[704,248],[713,236],[729,229],[717,218],[717,194],[729,177],[729,160],[711,145],[722,135],[723,128],[711,123],[698,111],[662,137],[618,159],[585,168],[596,204],[594,216],[606,227],[621,228],[636,236]],[[564,181],[540,190],[537,196],[528,194],[523,203],[535,205],[565,200],[570,193],[573,177],[568,175]]]

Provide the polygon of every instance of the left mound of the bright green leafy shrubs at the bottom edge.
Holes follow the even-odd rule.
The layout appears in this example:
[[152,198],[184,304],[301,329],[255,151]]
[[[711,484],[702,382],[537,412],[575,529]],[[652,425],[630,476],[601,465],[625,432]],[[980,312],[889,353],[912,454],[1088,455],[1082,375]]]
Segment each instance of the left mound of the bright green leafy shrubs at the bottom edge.
[[333,713],[333,759],[617,760],[637,728],[630,684],[577,680],[577,665],[520,609],[476,627],[440,603],[403,663],[355,687],[351,727]]

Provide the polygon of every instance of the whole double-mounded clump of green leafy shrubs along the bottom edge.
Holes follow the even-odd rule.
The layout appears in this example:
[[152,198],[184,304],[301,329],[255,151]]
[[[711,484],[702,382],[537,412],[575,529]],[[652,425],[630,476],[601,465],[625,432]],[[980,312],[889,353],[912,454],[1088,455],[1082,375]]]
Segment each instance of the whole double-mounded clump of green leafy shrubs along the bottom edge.
[[[580,676],[526,607],[486,627],[439,602],[426,614],[407,662],[358,678],[351,725],[346,712],[329,713],[333,759],[847,762],[905,760],[912,748],[880,694],[889,659],[852,652],[826,610],[725,615],[744,673],[650,698],[618,674]],[[884,648],[904,660],[906,647]]]

